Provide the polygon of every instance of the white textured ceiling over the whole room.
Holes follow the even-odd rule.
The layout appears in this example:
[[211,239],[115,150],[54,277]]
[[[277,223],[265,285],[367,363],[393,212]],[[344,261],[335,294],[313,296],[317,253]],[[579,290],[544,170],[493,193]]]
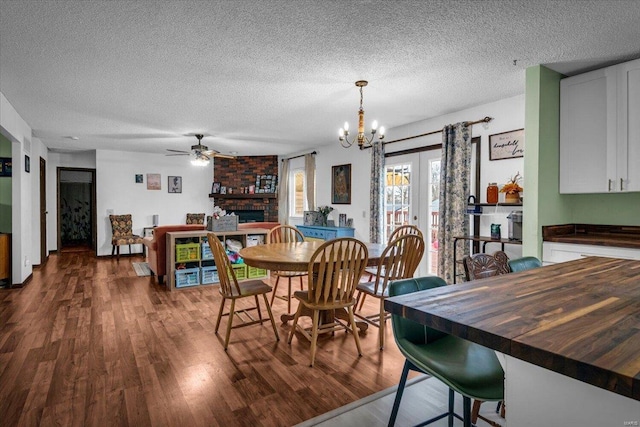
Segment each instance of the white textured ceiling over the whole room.
[[637,57],[638,0],[0,1],[0,90],[57,150],[289,154],[338,145],[359,79],[390,128]]

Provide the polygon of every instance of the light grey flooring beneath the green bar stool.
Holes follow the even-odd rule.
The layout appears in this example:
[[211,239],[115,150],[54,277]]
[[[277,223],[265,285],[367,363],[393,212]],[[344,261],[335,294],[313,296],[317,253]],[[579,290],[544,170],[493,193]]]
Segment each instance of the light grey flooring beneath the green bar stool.
[[[393,408],[397,387],[379,391],[355,402],[349,403],[333,411],[298,424],[296,427],[383,427],[389,422],[389,414]],[[413,426],[426,421],[447,410],[448,389],[441,381],[426,375],[420,375],[407,381],[402,395],[400,410],[396,419],[396,426]],[[494,413],[495,403],[487,402],[480,407],[480,413],[498,424],[504,425],[505,420]],[[462,397],[456,393],[456,413],[462,415]],[[447,419],[438,420],[430,424],[434,427],[444,427]],[[462,426],[462,421],[454,420],[454,426]],[[490,426],[478,420],[478,427]]]

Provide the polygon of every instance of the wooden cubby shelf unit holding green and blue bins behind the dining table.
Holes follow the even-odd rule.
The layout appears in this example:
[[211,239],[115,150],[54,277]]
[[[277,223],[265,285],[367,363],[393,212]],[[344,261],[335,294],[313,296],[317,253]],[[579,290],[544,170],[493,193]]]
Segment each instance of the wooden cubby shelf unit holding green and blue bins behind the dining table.
[[[255,243],[252,236],[266,241],[269,231],[261,228],[224,231],[215,234],[223,242],[237,240],[243,247]],[[169,290],[218,284],[218,273],[213,254],[207,243],[208,231],[174,231],[167,233],[167,285]],[[238,280],[268,277],[268,271],[249,267],[244,263],[232,264]]]

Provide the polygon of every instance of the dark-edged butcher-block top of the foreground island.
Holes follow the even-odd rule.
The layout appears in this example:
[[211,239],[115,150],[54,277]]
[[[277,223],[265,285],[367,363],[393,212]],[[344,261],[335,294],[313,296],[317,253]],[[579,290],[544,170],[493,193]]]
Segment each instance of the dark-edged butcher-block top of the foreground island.
[[640,400],[640,261],[587,257],[388,298],[385,308]]

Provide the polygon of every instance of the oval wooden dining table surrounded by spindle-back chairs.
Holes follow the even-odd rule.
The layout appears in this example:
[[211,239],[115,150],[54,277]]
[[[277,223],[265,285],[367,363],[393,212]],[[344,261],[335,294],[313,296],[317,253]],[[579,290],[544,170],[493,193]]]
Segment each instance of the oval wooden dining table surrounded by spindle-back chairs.
[[[325,242],[321,240],[267,243],[243,248],[239,253],[244,259],[244,263],[251,267],[264,268],[269,271],[308,271],[311,256],[323,243]],[[366,246],[369,253],[367,265],[378,265],[386,244],[366,243]],[[346,310],[337,310],[335,316],[348,321]],[[280,316],[280,320],[282,323],[287,323],[293,320],[293,317],[293,313],[287,313]],[[369,325],[366,322],[356,322],[356,326],[360,332],[364,332]]]

